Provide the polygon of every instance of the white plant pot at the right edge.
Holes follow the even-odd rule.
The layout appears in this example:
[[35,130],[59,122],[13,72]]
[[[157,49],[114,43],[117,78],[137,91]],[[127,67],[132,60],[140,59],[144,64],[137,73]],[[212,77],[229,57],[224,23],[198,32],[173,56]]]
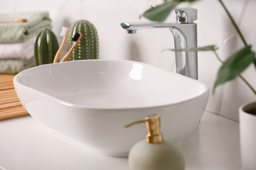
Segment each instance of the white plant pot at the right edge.
[[240,147],[243,170],[256,169],[256,115],[245,112],[255,107],[256,102],[245,103],[239,108]]

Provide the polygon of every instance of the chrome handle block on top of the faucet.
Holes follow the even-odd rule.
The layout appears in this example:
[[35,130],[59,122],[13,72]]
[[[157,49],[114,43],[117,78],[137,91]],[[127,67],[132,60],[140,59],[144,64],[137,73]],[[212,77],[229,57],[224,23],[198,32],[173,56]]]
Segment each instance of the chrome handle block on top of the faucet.
[[179,7],[175,9],[178,24],[190,24],[197,18],[198,10],[190,7]]

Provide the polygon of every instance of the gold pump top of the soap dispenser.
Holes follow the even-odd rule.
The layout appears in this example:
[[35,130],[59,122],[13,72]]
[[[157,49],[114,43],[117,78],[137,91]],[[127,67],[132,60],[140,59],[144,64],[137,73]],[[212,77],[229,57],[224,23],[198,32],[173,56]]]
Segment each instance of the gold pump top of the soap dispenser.
[[145,120],[138,120],[138,121],[132,122],[131,124],[127,124],[127,126],[125,127],[129,127],[134,124],[139,124],[142,122],[146,122],[146,128],[148,129],[148,133],[146,134],[146,142],[161,143],[163,139],[160,132],[160,116],[157,114],[146,116]]

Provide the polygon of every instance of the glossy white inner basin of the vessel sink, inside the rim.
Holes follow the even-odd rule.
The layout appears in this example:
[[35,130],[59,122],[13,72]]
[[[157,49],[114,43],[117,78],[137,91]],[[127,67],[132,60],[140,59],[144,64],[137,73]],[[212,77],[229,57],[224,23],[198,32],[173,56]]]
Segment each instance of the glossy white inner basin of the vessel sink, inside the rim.
[[[22,73],[20,84],[66,105],[95,108],[156,107],[192,99],[205,86],[137,62],[87,61],[38,67],[33,74]],[[75,65],[75,69],[72,65]],[[152,69],[152,68],[154,69]],[[185,82],[186,81],[186,82]]]

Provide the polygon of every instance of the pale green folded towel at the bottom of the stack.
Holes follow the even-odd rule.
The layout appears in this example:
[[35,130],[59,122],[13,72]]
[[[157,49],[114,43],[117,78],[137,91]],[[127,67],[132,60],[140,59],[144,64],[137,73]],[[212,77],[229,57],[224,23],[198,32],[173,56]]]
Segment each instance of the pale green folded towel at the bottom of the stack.
[[16,74],[24,69],[34,66],[33,58],[26,59],[0,59],[0,73]]

